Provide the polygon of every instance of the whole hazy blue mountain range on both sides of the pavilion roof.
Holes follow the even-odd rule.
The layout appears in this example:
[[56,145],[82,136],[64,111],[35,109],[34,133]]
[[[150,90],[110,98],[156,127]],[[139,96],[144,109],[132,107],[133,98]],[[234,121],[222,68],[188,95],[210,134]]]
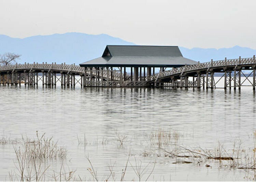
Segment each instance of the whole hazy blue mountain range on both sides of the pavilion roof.
[[[171,44],[171,42],[170,42]],[[0,35],[0,54],[13,52],[21,54],[20,63],[24,62],[66,62],[79,64],[100,57],[106,45],[135,45],[120,38],[106,34],[89,35],[84,33],[65,33],[38,35],[27,38],[12,38]],[[184,57],[208,62],[241,57],[252,57],[256,50],[234,46],[222,49],[187,49],[180,47]]]

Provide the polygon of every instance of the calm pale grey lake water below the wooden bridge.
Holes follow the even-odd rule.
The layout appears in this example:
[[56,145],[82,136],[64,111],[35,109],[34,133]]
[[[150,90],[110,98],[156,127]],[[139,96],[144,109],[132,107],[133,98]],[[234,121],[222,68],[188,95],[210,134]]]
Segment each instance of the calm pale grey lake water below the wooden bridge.
[[[220,166],[219,161],[166,157],[150,141],[150,135],[164,130],[179,135],[179,146],[190,149],[214,149],[218,142],[231,150],[241,140],[241,148],[254,148],[256,98],[252,87],[231,91],[216,89],[172,90],[169,88],[37,88],[0,87],[0,130],[13,140],[22,135],[35,138],[36,131],[53,136],[59,146],[67,148],[64,164],[84,180],[93,180],[87,168],[89,156],[99,180],[110,174],[119,181],[129,151],[131,153],[125,181],[138,181],[132,166],[148,165],[145,181],[154,163],[149,181],[244,181],[251,180],[253,170]],[[117,134],[126,135],[123,145]],[[87,144],[78,143],[86,137]],[[102,142],[102,140],[104,140]],[[157,140],[157,139],[156,139]],[[17,171],[14,147],[0,144],[0,181],[9,180],[8,171]],[[173,143],[162,148],[171,150]],[[178,147],[178,146],[175,146]],[[146,153],[148,155],[146,155]],[[146,157],[145,157],[146,156]],[[136,161],[135,161],[136,160]],[[173,164],[176,161],[189,164]],[[48,161],[48,174],[58,169],[61,160]],[[212,167],[205,167],[206,164]],[[109,179],[113,181],[113,177]]]

